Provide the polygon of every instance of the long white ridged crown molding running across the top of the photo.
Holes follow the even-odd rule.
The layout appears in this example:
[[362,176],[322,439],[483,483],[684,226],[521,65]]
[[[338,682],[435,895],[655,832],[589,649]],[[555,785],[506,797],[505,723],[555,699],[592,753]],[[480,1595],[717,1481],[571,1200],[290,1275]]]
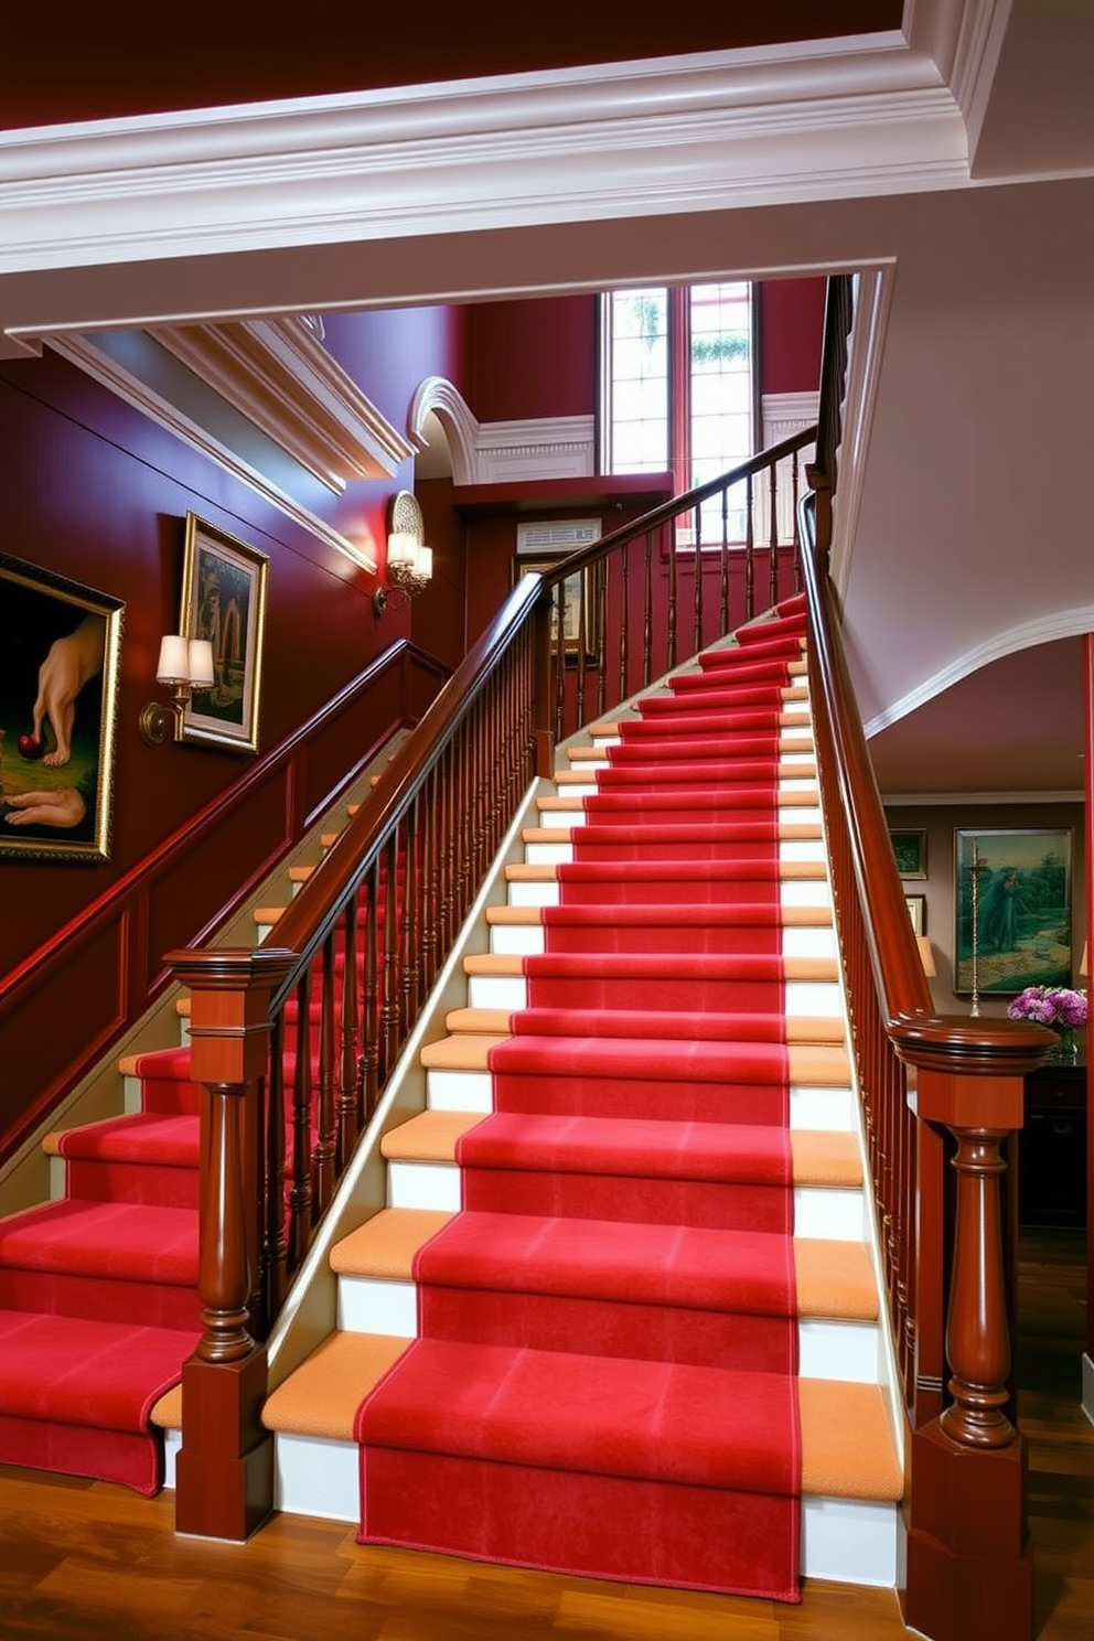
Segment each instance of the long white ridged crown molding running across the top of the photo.
[[0,133],[0,274],[968,182],[935,62],[861,36]]

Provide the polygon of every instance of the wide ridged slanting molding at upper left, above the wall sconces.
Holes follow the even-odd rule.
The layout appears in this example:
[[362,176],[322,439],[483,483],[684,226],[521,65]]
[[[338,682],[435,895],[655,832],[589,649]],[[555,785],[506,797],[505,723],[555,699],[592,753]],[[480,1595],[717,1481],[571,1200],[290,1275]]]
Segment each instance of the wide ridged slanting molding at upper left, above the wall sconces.
[[149,336],[335,494],[348,479],[392,478],[413,455],[303,318],[164,325]]

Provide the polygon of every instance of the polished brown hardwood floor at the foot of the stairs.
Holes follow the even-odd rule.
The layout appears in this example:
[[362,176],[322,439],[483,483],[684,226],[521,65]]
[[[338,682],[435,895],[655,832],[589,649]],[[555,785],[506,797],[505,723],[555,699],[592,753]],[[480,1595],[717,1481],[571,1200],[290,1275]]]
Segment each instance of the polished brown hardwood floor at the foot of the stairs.
[[[1094,1636],[1094,1428],[1079,1406],[1083,1232],[1020,1247],[1038,1641]],[[279,1516],[249,1544],[174,1536],[172,1498],[0,1467],[0,1634],[54,1641],[900,1641],[896,1597],[807,1580],[800,1607],[361,1547]]]

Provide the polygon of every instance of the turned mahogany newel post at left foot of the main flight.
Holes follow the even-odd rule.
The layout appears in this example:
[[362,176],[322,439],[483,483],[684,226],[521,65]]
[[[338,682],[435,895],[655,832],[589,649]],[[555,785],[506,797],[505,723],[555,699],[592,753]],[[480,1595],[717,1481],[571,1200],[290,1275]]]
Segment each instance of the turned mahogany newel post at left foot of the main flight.
[[282,950],[169,952],[190,990],[190,1075],[202,1101],[198,1291],[203,1336],[182,1369],[175,1531],[246,1539],[272,1510],[272,1436],[261,1424],[266,1349],[248,1331],[262,1224],[259,1099]]

